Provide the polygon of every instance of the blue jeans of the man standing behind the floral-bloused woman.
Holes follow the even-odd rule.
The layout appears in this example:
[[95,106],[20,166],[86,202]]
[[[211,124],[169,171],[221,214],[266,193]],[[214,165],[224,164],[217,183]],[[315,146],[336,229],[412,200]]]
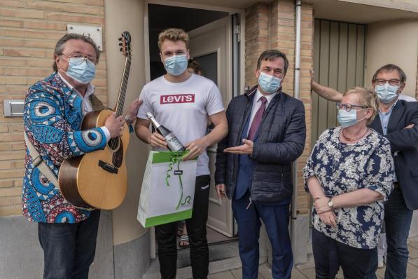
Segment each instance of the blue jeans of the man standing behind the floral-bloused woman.
[[408,258],[407,237],[410,232],[413,211],[408,209],[402,191],[394,189],[384,204],[386,224],[386,273],[385,279],[405,279]]

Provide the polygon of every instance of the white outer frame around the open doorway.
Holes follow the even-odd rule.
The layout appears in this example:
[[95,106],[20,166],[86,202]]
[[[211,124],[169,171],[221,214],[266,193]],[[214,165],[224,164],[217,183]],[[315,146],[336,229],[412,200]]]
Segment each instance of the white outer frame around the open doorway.
[[[165,5],[165,6],[176,6],[176,7],[183,7],[183,8],[198,8],[202,10],[209,10],[209,11],[221,11],[229,13],[229,15],[233,15],[235,13],[239,14],[240,18],[240,35],[241,35],[241,43],[239,48],[239,92],[244,92],[245,86],[245,11],[242,9],[236,8],[226,8],[220,6],[210,6],[210,5],[202,5],[202,4],[190,4],[181,1],[169,1],[169,0],[145,0],[144,1],[144,57],[145,57],[145,81],[146,83],[151,81],[151,71],[150,71],[150,49],[149,49],[149,26],[148,26],[148,4],[158,4],[158,5]],[[233,28],[233,27],[232,27]],[[231,30],[234,32],[234,30]],[[232,81],[230,81],[232,82]],[[229,83],[229,81],[228,81]],[[232,99],[234,96],[230,96]],[[231,209],[232,210],[232,209]],[[155,229],[152,227],[150,229],[150,256],[151,259],[155,259],[156,256],[156,243],[155,243]]]

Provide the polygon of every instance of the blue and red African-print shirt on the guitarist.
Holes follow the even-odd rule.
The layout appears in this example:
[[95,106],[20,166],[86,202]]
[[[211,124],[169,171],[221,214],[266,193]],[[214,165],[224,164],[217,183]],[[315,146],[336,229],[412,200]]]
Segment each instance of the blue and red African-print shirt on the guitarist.
[[[58,175],[62,162],[106,147],[101,128],[81,130],[83,98],[57,73],[35,83],[27,91],[23,123],[25,132],[51,170]],[[62,197],[60,189],[32,164],[26,148],[22,210],[30,221],[76,223],[89,212],[79,210]]]

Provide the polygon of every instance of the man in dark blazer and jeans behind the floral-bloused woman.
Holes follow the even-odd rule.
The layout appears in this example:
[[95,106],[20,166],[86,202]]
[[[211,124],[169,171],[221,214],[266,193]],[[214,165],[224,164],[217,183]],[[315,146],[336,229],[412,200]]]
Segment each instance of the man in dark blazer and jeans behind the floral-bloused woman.
[[379,117],[370,128],[391,142],[395,189],[384,204],[388,245],[385,279],[406,278],[407,236],[413,210],[418,209],[418,102],[398,100],[406,75],[386,64],[377,70],[372,85],[379,97]]

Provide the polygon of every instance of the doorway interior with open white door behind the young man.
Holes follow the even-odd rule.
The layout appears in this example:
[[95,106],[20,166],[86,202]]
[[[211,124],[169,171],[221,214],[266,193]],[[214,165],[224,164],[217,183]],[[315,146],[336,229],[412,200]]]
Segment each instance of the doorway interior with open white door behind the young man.
[[[184,29],[190,37],[190,57],[200,64],[202,75],[216,83],[226,107],[232,95],[235,95],[232,93],[232,80],[239,80],[239,76],[234,74],[234,67],[239,67],[239,62],[234,61],[234,57],[239,57],[237,50],[233,53],[237,36],[232,32],[232,25],[236,24],[237,15],[232,16],[225,11],[148,4],[149,80],[165,74],[160,60],[158,34],[172,27]],[[235,72],[239,72],[239,69],[235,69]],[[214,190],[216,145],[209,147],[207,153],[211,170],[207,238],[209,244],[218,244],[235,240],[237,226],[232,217],[230,201],[220,200]]]

